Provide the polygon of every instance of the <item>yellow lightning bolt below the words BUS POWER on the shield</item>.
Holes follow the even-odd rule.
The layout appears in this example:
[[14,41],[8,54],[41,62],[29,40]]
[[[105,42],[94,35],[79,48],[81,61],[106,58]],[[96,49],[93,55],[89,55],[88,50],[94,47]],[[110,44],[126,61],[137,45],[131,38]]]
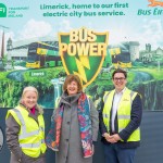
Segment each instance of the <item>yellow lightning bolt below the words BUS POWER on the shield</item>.
[[85,67],[90,70],[88,57],[80,55],[79,60],[75,58],[78,72],[74,72],[75,75],[78,75],[85,83],[87,83],[87,76],[85,73]]

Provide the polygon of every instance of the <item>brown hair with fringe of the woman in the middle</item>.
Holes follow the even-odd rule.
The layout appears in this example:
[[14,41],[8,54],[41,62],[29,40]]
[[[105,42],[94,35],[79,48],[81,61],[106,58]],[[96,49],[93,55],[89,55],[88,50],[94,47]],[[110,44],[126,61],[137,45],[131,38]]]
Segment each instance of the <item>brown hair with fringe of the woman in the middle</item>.
[[78,92],[83,91],[83,84],[78,75],[70,74],[66,76],[65,82],[63,84],[63,91],[66,91],[67,85],[72,82],[77,83]]

